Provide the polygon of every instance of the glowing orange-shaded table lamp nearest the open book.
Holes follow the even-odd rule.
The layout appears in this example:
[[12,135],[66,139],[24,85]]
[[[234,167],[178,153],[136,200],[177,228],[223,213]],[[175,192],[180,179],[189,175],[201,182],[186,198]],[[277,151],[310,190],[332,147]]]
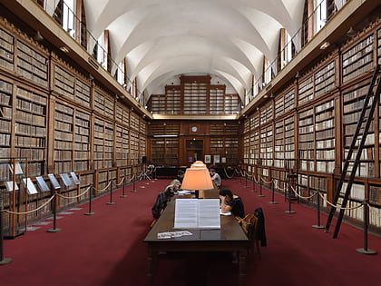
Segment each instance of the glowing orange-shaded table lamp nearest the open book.
[[208,168],[202,161],[196,161],[190,165],[190,168],[185,170],[184,179],[182,179],[182,190],[194,190],[196,198],[199,197],[200,190],[213,189]]

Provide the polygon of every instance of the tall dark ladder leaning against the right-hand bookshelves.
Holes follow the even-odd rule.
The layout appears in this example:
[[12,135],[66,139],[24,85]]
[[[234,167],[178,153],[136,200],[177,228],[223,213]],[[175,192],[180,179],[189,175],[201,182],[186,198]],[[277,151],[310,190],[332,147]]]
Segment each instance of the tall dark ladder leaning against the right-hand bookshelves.
[[[333,238],[337,238],[337,234],[340,230],[340,225],[341,225],[341,222],[343,220],[343,216],[344,216],[344,212],[345,212],[344,208],[347,206],[347,200],[349,198],[350,190],[352,188],[352,184],[353,184],[353,181],[355,179],[355,175],[357,172],[357,167],[358,167],[358,163],[360,160],[360,156],[361,156],[361,153],[364,149],[364,145],[366,143],[366,135],[369,131],[369,126],[370,126],[370,123],[372,122],[373,115],[375,113],[376,104],[379,101],[379,95],[380,95],[380,89],[381,89],[381,80],[380,79],[381,79],[380,64],[377,64],[375,72],[374,72],[373,77],[372,77],[372,81],[370,82],[369,89],[368,89],[367,94],[366,94],[364,106],[361,110],[361,114],[360,114],[360,117],[358,119],[356,131],[353,135],[352,142],[351,142],[349,150],[347,152],[347,158],[346,158],[346,161],[344,163],[343,170],[341,172],[340,181],[337,183],[337,188],[336,188],[336,192],[335,192],[335,196],[334,196],[334,200],[333,200],[333,206],[331,207],[331,209],[329,211],[328,218],[327,218],[327,224],[326,224],[325,232],[329,231],[330,224],[331,224],[332,219],[333,219],[333,217],[336,213],[336,210],[337,210],[336,206],[337,206],[338,199],[340,198],[341,188],[342,188],[343,183],[347,177],[347,169],[349,167],[349,163],[353,162],[353,167],[352,167],[352,170],[351,170],[348,182],[347,182],[347,189],[344,193],[344,198],[343,198],[343,201],[341,203],[342,208],[340,208],[340,212],[339,212],[338,217],[337,217],[337,224],[335,226],[335,232],[333,234]],[[375,90],[375,87],[376,87],[376,90]],[[372,98],[373,98],[373,100],[371,100]],[[358,135],[360,134],[360,131],[362,130],[363,123],[366,123],[366,125],[363,129],[363,135],[361,136],[361,141],[357,147],[356,146],[357,138],[358,138]],[[352,154],[356,151],[357,151],[356,159],[355,159],[355,161],[353,161],[353,160],[351,160]]]

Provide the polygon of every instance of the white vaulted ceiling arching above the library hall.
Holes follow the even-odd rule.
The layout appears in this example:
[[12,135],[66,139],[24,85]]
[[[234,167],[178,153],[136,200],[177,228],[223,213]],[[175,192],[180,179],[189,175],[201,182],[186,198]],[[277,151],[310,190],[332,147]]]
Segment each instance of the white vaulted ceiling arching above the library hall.
[[294,35],[305,0],[84,0],[87,28],[109,30],[112,58],[126,57],[138,89],[157,94],[180,74],[210,74],[243,100],[263,56],[278,52],[279,29]]

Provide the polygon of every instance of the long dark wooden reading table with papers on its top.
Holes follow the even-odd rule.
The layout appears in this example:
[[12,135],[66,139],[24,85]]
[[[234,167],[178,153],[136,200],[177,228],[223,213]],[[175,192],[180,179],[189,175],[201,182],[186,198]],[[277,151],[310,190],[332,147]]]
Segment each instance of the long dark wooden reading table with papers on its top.
[[[187,200],[187,199],[177,199]],[[221,216],[220,230],[187,230],[193,234],[171,239],[158,239],[160,232],[175,232],[174,225],[175,200],[168,204],[161,217],[152,227],[144,242],[148,246],[148,283],[153,285],[154,272],[158,265],[158,253],[161,251],[190,252],[190,251],[236,251],[239,258],[238,285],[245,285],[246,255],[249,240],[242,231],[237,220],[232,216]]]

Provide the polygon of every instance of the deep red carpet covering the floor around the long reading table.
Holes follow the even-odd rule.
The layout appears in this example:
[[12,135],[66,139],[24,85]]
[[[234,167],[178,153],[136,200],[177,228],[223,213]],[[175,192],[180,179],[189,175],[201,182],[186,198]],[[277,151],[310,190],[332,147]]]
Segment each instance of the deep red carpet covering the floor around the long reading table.
[[[151,222],[151,206],[157,192],[170,180],[138,182],[136,190],[126,187],[93,201],[93,216],[87,204],[82,210],[62,214],[57,227],[53,223],[37,231],[26,232],[5,241],[5,257],[12,263],[0,266],[1,286],[98,286],[146,285],[146,246],[142,242]],[[242,180],[243,182],[243,180]],[[278,204],[269,204],[270,192],[259,197],[243,184],[228,180],[224,186],[242,197],[246,212],[262,207],[266,218],[268,247],[261,248],[262,259],[250,257],[247,285],[377,285],[381,281],[381,238],[369,235],[368,246],[377,255],[357,253],[364,246],[363,233],[346,223],[337,239],[332,233],[313,229],[317,213],[293,203],[295,214],[285,213],[288,205],[276,194]],[[141,188],[144,186],[145,188]],[[326,222],[322,215],[321,222]],[[331,232],[333,232],[331,227]],[[191,253],[162,255],[156,285],[234,285],[236,264],[224,254]]]

